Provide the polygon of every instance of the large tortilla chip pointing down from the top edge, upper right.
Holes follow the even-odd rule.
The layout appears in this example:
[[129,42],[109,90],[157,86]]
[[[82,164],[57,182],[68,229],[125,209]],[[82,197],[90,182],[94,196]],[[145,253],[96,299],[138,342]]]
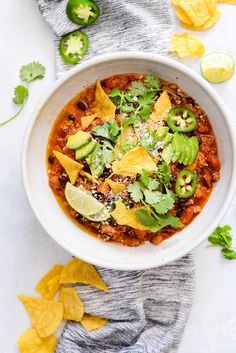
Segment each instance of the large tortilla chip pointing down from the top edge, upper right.
[[216,11],[216,0],[179,0],[178,6],[190,18],[193,26],[199,27],[209,21]]

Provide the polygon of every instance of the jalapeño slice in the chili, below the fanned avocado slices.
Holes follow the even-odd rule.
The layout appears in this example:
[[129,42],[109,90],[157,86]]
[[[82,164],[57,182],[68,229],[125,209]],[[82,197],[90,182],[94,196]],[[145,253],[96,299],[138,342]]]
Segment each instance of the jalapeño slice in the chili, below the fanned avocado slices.
[[190,169],[182,169],[177,175],[175,183],[175,192],[182,198],[187,199],[195,193],[198,185],[198,177]]

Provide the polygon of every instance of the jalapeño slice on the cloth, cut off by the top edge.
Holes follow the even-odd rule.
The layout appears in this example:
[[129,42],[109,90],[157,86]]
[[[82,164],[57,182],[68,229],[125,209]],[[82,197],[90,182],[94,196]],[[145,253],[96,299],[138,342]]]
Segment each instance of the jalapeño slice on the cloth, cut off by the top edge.
[[99,7],[91,0],[69,0],[66,6],[69,19],[78,25],[91,25],[100,15]]

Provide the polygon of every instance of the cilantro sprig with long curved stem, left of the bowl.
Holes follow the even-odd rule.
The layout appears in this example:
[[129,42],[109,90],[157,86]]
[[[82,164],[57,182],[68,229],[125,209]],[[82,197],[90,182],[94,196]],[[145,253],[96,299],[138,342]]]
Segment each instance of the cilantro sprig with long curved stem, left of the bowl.
[[13,102],[20,106],[20,108],[11,118],[1,121],[0,126],[9,123],[21,113],[29,97],[29,83],[43,79],[45,71],[45,67],[39,62],[32,62],[21,67],[20,79],[21,81],[26,82],[26,85],[18,85],[15,87],[13,96]]

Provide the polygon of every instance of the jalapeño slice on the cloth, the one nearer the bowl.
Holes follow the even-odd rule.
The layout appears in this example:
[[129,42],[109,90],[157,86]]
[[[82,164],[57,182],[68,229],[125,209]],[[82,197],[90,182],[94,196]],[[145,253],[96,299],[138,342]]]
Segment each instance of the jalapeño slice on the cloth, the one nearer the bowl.
[[77,29],[62,37],[59,44],[59,52],[66,63],[76,64],[86,53],[88,44],[88,36]]

